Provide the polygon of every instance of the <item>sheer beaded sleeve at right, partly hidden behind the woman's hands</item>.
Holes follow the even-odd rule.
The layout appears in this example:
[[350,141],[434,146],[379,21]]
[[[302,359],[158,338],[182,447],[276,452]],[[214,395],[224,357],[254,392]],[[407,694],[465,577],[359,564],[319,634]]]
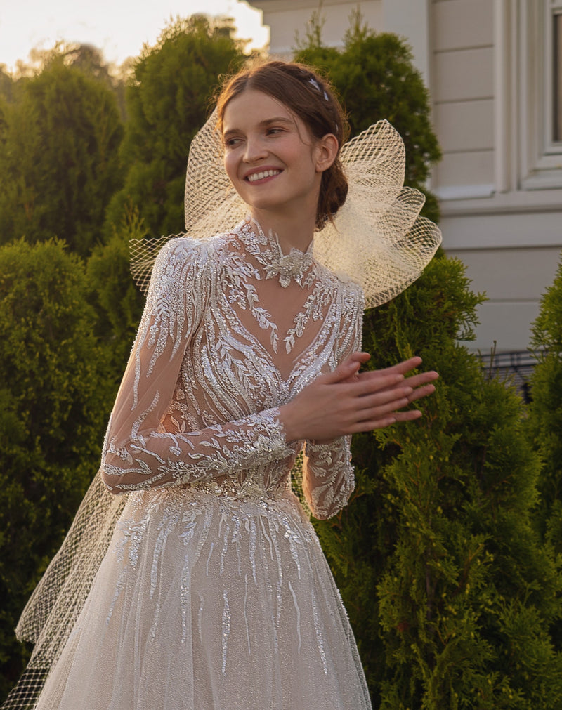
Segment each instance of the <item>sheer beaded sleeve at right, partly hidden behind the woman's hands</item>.
[[[342,317],[337,364],[361,349],[363,298],[359,288],[352,289]],[[351,464],[351,437],[339,437],[329,444],[305,442],[303,493],[315,518],[325,520],[338,513],[355,488]]]

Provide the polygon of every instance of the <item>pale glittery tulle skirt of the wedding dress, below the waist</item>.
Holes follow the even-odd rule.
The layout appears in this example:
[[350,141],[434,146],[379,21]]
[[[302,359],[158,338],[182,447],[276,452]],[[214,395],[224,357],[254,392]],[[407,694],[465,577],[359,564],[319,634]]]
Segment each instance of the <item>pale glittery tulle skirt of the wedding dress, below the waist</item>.
[[39,710],[370,708],[328,564],[290,491],[132,493]]

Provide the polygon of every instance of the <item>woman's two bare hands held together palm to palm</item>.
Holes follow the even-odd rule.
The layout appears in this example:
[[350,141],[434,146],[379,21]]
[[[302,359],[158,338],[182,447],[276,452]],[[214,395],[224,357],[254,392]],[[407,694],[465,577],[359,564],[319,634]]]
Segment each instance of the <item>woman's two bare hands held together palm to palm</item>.
[[281,405],[287,441],[329,441],[421,417],[419,410],[398,411],[435,391],[438,373],[407,377],[421,364],[414,357],[384,370],[359,373],[368,353],[353,353],[333,372],[320,375],[293,400]]

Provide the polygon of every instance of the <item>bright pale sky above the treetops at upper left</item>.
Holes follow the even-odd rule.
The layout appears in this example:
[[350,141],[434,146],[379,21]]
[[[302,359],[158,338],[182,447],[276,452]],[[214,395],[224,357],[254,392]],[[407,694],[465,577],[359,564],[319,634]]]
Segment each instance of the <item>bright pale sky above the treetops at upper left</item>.
[[107,62],[136,57],[153,45],[170,18],[193,13],[234,18],[237,37],[261,48],[269,31],[261,13],[237,0],[0,0],[0,65],[12,71],[33,48],[50,49],[58,40],[92,44]]

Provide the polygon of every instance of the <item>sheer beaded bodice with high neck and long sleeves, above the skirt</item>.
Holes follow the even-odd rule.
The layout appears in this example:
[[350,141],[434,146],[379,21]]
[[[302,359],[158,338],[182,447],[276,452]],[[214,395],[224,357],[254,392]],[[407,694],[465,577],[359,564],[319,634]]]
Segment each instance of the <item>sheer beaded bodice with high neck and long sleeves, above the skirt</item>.
[[[253,222],[171,240],[109,422],[105,483],[234,498],[286,491],[302,442],[286,442],[278,407],[357,349],[361,316],[359,287],[310,252],[284,255]],[[316,514],[344,505],[352,485],[349,441],[306,444]]]

